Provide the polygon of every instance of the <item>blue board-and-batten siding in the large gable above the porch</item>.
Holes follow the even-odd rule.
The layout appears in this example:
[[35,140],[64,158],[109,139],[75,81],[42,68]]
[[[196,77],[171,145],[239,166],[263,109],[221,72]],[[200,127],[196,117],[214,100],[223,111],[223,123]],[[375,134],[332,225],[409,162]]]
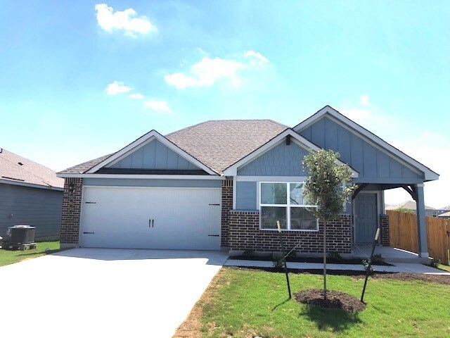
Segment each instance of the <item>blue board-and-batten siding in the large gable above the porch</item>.
[[423,182],[423,175],[414,172],[330,118],[321,118],[300,134],[321,148],[339,151],[340,159],[359,172],[356,182]]

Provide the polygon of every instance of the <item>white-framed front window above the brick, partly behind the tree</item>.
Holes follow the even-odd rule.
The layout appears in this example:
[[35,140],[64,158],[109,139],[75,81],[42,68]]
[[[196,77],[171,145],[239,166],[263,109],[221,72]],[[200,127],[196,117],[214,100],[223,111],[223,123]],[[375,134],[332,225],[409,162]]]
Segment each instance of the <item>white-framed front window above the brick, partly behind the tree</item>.
[[276,230],[279,220],[281,229],[319,230],[311,208],[314,206],[304,204],[303,183],[261,182],[259,185],[261,229]]

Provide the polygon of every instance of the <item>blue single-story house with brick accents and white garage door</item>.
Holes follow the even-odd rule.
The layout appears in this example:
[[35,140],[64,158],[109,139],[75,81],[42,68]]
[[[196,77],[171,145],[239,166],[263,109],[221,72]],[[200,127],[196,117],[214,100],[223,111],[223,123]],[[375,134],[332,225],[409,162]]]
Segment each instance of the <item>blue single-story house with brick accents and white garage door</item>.
[[279,251],[276,220],[299,253],[322,250],[322,225],[303,200],[302,159],[340,152],[357,189],[328,225],[328,248],[389,245],[383,192],[403,187],[417,203],[420,256],[428,257],[424,182],[439,175],[330,106],[295,127],[273,120],[210,120],[58,173],[65,179],[66,247]]

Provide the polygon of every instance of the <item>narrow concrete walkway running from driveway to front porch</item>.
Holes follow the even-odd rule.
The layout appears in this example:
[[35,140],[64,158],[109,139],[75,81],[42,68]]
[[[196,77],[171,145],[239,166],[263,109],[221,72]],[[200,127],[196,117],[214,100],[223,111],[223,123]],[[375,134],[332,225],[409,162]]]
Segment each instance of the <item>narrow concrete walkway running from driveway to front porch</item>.
[[[392,266],[387,265],[373,265],[375,272],[380,273],[423,273],[428,275],[449,275],[445,271],[432,268],[428,265],[423,265],[419,263],[398,263],[398,262],[387,262],[392,264]],[[273,264],[271,261],[244,261],[238,259],[229,259],[224,264],[225,266],[241,266],[241,267],[252,267],[252,268],[272,268]],[[300,269],[300,270],[321,270],[323,268],[322,263],[298,263],[298,262],[288,262],[288,268],[290,269]],[[352,271],[364,271],[362,264],[327,264],[326,268],[328,270],[352,270]]]

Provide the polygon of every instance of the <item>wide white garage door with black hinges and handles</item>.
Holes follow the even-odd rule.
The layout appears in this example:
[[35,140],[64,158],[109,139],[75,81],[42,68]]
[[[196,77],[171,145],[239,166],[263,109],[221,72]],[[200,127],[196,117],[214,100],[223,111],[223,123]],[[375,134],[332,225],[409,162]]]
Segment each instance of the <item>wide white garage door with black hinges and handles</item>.
[[84,187],[80,244],[219,250],[219,188]]

